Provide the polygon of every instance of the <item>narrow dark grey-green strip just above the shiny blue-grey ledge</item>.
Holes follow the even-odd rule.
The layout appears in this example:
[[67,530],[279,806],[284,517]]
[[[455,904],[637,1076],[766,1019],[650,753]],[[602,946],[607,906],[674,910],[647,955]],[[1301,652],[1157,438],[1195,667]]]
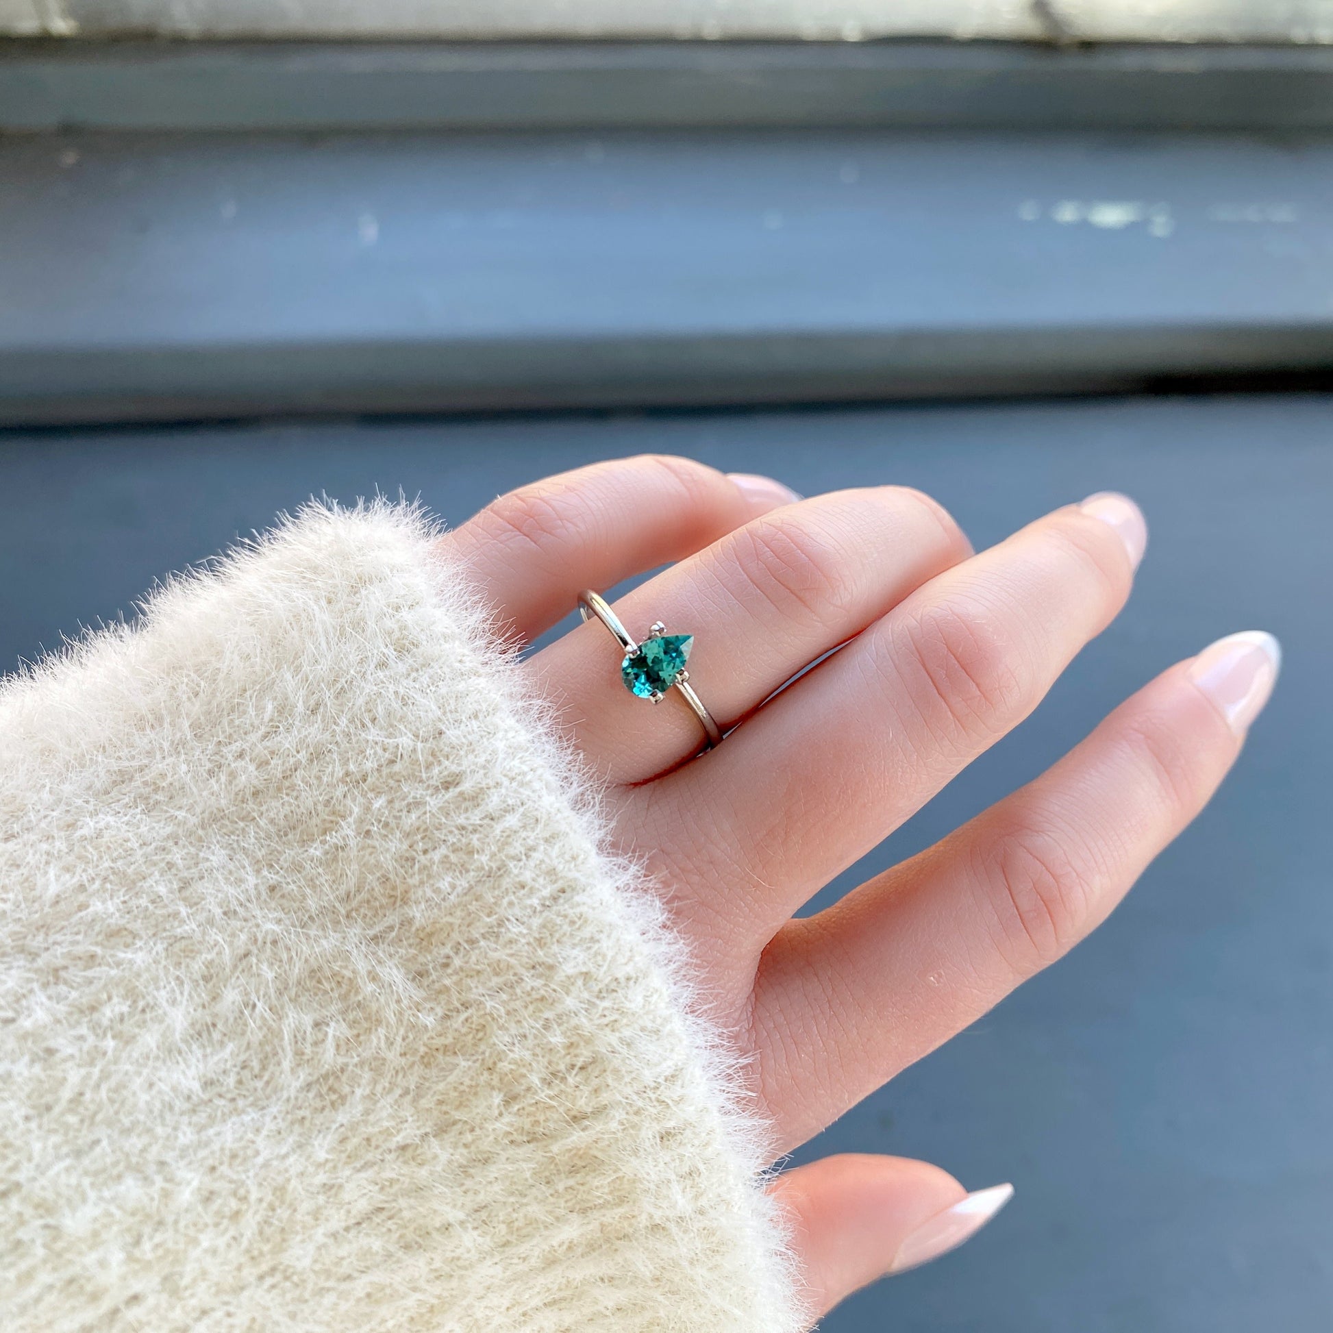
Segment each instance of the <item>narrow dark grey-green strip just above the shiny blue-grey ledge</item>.
[[0,129],[1326,132],[1330,83],[1318,45],[9,41]]

